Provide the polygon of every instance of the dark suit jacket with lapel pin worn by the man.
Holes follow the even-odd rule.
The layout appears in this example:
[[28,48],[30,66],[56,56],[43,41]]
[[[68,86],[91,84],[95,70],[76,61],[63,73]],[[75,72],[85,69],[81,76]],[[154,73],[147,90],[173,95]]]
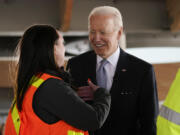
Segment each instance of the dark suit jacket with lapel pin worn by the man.
[[[78,87],[88,78],[96,84],[94,51],[70,59],[67,69]],[[121,49],[110,93],[109,116],[95,135],[156,135],[158,96],[151,64]]]

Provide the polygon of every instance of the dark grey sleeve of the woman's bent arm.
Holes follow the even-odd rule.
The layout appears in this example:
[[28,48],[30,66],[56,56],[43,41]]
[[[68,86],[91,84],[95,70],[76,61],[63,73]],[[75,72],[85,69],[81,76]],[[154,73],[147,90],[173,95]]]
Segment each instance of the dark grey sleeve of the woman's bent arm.
[[48,117],[53,117],[78,129],[96,130],[102,126],[109,113],[110,101],[110,94],[99,88],[94,93],[94,103],[89,105],[65,82],[51,78],[36,91],[33,108],[45,122]]

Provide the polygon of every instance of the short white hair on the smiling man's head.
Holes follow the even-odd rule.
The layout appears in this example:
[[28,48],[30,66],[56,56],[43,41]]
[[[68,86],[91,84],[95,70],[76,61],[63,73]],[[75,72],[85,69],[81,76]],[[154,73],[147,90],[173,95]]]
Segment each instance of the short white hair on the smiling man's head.
[[114,24],[115,24],[115,28],[116,29],[120,29],[121,27],[123,27],[123,22],[122,22],[122,16],[120,11],[115,8],[115,7],[111,7],[111,6],[100,6],[100,7],[96,7],[94,8],[88,17],[88,28],[90,28],[90,18],[93,15],[112,15],[114,17]]

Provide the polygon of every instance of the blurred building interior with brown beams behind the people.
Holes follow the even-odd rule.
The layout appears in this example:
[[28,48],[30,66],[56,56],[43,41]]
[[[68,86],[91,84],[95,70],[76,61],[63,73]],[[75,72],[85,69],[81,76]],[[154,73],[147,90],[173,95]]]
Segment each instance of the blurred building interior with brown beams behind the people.
[[59,28],[68,60],[91,49],[87,18],[102,5],[121,11],[121,47],[154,65],[159,99],[165,99],[180,67],[179,0],[0,0],[0,124],[13,97],[9,63],[24,30],[39,23]]

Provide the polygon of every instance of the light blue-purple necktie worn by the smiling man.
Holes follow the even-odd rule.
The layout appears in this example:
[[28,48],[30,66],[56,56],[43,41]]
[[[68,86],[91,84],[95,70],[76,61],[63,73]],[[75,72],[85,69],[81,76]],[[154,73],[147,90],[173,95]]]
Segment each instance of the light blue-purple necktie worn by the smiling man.
[[107,73],[105,70],[105,65],[107,63],[108,63],[108,61],[106,59],[103,59],[101,61],[101,65],[100,65],[99,69],[97,70],[97,74],[96,74],[97,84],[98,84],[98,86],[100,86],[102,88],[106,88],[106,84],[107,84]]

